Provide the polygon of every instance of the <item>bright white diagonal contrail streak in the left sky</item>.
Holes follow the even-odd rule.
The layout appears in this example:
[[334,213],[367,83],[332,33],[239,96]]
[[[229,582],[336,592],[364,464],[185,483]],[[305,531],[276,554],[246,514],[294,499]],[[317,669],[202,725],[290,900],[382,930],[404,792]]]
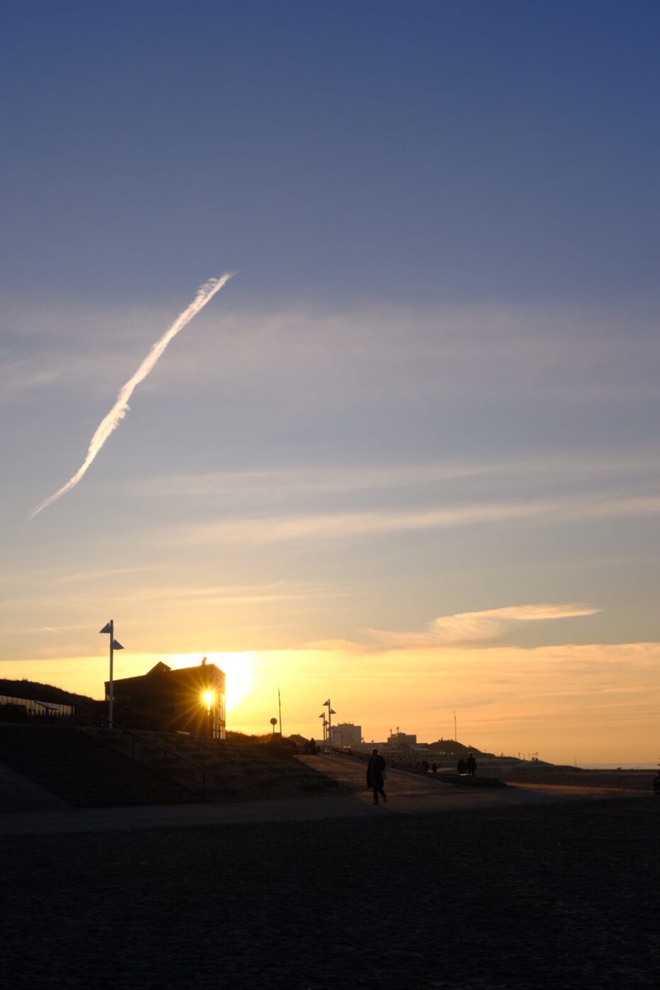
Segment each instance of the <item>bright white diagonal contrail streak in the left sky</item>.
[[176,337],[180,330],[183,330],[186,324],[190,323],[193,317],[197,316],[200,310],[204,309],[206,304],[213,299],[216,292],[222,289],[223,285],[226,285],[227,282],[229,282],[233,274],[233,271],[226,272],[224,275],[221,275],[220,278],[210,278],[208,282],[204,283],[204,285],[200,285],[197,290],[197,295],[190,305],[184,309],[180,316],[176,318],[174,323],[168,330],[165,331],[160,340],[156,341],[133,377],[129,378],[126,385],[122,386],[122,389],[117,396],[117,402],[112,407],[108,415],[101,420],[101,423],[97,427],[96,433],[92,437],[91,444],[87,450],[87,456],[78,470],[71,478],[68,479],[65,485],[62,485],[62,487],[59,488],[53,495],[49,495],[41,505],[37,506],[34,512],[31,512],[28,516],[28,522],[30,522],[31,519],[34,519],[35,516],[42,511],[42,509],[46,509],[48,505],[51,505],[55,499],[59,498],[60,495],[65,495],[66,492],[70,491],[71,488],[77,485],[78,481],[80,481],[80,478],[92,463],[101,447],[108,440],[108,437],[110,437],[110,434],[117,429],[121,420],[124,419],[129,411],[129,399],[133,395],[136,386],[139,385],[144,378],[146,378],[147,374],[169,342]]

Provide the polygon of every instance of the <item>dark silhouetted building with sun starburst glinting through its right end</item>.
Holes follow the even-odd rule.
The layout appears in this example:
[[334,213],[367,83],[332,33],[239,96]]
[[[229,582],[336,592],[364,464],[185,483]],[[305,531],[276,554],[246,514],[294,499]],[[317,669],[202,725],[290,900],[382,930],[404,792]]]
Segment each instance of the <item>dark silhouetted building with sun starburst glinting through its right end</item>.
[[[109,690],[106,681],[106,700]],[[206,657],[198,667],[172,670],[159,662],[139,677],[114,680],[113,703],[115,719],[127,729],[225,739],[225,673]]]

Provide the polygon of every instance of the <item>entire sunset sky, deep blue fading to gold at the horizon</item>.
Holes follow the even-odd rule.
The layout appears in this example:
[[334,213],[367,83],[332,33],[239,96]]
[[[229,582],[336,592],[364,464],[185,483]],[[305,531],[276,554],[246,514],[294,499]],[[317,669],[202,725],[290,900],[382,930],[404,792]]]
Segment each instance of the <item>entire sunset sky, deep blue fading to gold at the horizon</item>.
[[103,697],[112,618],[231,729],[654,760],[659,29],[4,3],[0,676]]

